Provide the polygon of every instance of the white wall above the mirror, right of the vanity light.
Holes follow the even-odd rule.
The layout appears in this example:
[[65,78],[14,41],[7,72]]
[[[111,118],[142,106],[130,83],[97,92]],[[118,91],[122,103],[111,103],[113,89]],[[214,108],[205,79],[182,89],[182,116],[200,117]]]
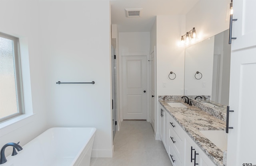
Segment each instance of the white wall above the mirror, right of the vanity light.
[[228,29],[229,4],[230,0],[198,1],[186,14],[186,32],[195,27],[202,41]]

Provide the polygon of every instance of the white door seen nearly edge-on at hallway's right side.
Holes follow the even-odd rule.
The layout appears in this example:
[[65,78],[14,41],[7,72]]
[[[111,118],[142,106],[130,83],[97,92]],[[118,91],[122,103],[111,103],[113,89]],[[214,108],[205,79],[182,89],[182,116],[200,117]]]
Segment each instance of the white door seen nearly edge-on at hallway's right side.
[[155,51],[150,54],[150,123],[155,131]]

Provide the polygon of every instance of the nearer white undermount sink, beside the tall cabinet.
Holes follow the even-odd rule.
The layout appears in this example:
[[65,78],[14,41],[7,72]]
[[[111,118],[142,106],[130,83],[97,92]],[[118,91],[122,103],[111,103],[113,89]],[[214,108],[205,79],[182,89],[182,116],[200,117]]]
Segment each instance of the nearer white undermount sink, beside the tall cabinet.
[[200,132],[220,150],[227,150],[228,134],[224,130],[200,130]]

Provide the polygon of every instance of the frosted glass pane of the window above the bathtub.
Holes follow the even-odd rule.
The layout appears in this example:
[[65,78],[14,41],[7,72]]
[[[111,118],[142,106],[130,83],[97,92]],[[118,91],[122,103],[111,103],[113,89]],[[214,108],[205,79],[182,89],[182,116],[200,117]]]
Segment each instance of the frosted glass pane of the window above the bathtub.
[[0,37],[0,118],[18,113],[13,45]]

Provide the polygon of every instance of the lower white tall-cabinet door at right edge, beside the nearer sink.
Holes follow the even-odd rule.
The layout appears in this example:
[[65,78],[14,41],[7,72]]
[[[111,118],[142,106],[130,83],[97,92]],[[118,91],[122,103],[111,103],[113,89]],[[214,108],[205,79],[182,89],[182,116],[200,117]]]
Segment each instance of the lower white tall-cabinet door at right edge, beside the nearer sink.
[[256,47],[233,51],[230,63],[230,112],[227,166],[256,164]]

